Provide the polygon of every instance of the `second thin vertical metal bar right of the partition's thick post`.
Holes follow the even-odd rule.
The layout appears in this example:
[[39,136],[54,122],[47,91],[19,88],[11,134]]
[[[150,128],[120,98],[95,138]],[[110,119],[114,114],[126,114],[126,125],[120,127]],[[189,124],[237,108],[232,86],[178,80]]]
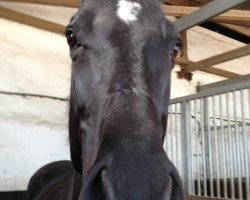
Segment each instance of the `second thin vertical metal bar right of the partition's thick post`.
[[204,196],[207,196],[207,175],[206,175],[206,155],[205,155],[205,137],[204,137],[204,102],[203,98],[200,100],[200,123],[201,123],[201,141],[202,141],[202,163],[203,163],[203,190]]

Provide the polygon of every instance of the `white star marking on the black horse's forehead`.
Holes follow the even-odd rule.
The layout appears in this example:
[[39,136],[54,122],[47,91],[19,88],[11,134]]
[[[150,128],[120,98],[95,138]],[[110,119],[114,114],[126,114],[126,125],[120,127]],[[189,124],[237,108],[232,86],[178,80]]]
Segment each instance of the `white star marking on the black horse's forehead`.
[[137,20],[137,15],[141,10],[141,5],[129,0],[119,0],[117,4],[117,15],[126,24]]

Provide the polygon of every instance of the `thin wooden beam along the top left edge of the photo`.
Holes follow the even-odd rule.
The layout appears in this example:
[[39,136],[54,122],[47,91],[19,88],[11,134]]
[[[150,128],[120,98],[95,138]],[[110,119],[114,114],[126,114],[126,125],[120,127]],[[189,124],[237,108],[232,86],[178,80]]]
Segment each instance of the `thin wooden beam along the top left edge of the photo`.
[[53,6],[67,6],[79,8],[81,0],[8,0],[7,2],[10,1],[19,3],[38,3]]

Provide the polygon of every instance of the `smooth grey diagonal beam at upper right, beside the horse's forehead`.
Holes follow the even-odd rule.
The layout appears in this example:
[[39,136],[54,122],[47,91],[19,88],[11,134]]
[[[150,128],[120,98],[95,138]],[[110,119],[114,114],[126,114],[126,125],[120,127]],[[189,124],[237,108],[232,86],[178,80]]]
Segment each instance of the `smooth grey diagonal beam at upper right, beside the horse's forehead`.
[[185,31],[247,1],[248,0],[214,0],[199,10],[178,19],[175,21],[175,25],[179,32]]

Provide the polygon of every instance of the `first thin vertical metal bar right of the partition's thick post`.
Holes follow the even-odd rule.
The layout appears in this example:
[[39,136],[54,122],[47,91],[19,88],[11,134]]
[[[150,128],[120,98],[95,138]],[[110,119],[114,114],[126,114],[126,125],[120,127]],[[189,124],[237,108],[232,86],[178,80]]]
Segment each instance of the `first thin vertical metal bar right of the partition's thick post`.
[[196,150],[196,171],[197,171],[197,194],[201,195],[201,182],[200,182],[200,153],[199,153],[199,130],[197,118],[197,99],[194,100],[194,119],[195,119],[195,150]]

